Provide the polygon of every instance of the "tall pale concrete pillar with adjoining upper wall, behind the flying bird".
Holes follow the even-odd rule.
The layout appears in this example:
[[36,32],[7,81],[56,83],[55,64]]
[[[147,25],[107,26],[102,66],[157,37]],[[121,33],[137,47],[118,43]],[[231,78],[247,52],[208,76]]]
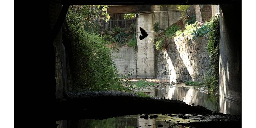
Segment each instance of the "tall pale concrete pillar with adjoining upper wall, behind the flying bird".
[[[166,10],[166,8],[160,5],[152,5],[152,11]],[[169,6],[169,10],[175,11],[174,7]],[[180,20],[180,12],[169,12],[169,24]],[[158,21],[160,28],[168,27],[167,12],[150,12],[142,13],[137,16],[137,37],[141,35],[140,27],[148,32],[148,36],[140,40],[137,38],[137,78],[155,78],[156,77],[156,55],[154,49],[154,37],[156,35],[153,32],[153,25]]]

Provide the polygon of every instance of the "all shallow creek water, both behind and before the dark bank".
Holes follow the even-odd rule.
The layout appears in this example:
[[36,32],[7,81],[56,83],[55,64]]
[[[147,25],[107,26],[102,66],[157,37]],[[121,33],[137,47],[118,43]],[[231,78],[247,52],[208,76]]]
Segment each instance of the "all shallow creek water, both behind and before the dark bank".
[[[201,105],[212,111],[224,114],[241,115],[241,103],[230,100],[221,100],[216,96],[206,94],[198,90],[199,87],[186,86],[185,84],[165,85],[153,88],[140,89],[140,92],[170,100],[182,100],[188,105]],[[221,102],[220,102],[221,101]],[[234,107],[235,106],[235,107]],[[179,115],[167,116],[167,114],[156,114],[157,118],[140,118],[143,115],[120,116],[104,120],[82,119],[57,121],[58,128],[176,128],[185,127],[177,125],[179,123],[207,121],[207,117],[197,115],[186,115],[188,119],[183,119]],[[150,115],[149,115],[150,116]],[[220,117],[217,117],[220,118]],[[179,123],[178,123],[178,122]],[[209,121],[212,121],[211,119]]]

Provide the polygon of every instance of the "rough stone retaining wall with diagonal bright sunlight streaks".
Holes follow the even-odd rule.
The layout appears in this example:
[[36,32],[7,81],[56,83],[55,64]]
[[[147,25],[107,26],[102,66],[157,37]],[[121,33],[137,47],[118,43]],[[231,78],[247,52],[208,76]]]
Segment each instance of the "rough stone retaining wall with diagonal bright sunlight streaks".
[[189,42],[191,37],[179,36],[165,41],[164,50],[157,55],[158,79],[203,82],[203,76],[209,68],[206,50],[208,37],[199,37],[195,42]]

